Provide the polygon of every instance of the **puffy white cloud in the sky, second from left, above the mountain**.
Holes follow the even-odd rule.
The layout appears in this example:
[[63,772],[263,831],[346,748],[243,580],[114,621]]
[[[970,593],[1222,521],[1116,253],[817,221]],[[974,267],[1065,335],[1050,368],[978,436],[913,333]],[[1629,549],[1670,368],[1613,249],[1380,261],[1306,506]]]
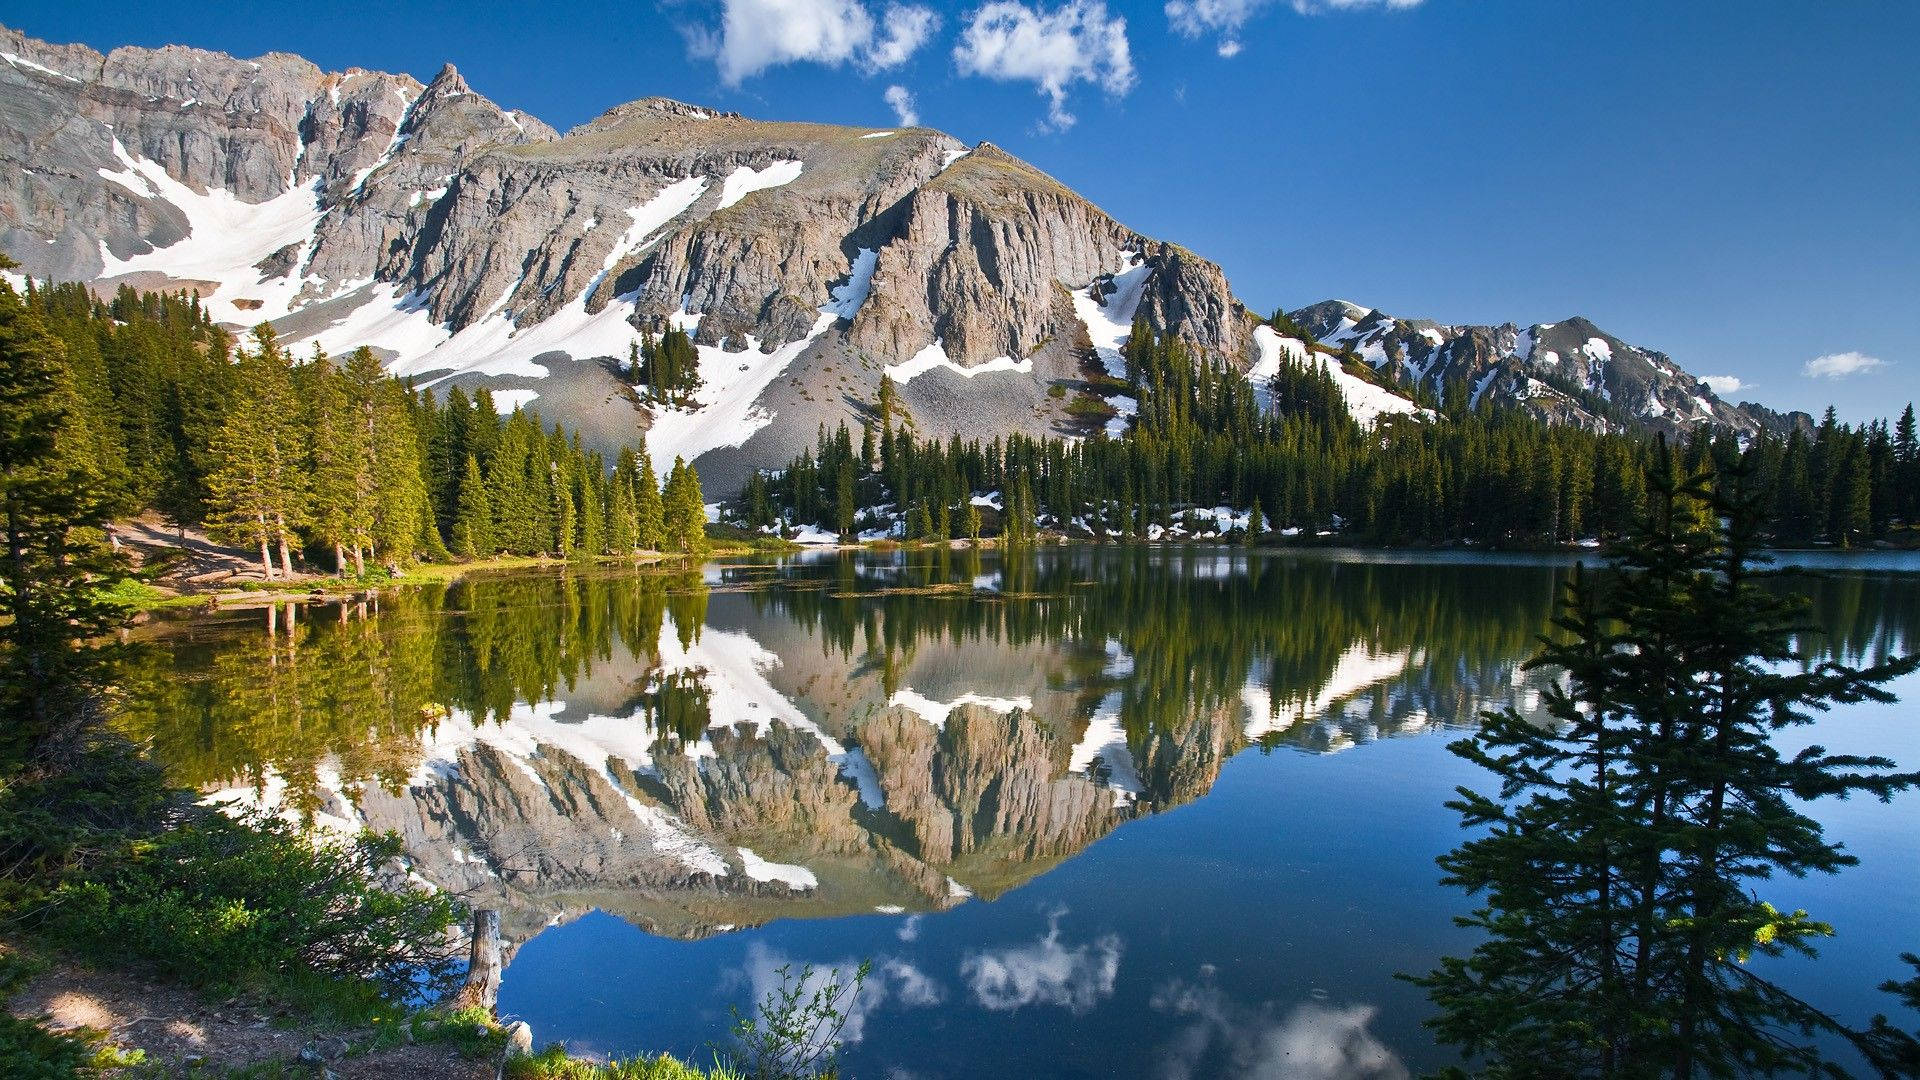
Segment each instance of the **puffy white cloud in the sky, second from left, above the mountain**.
[[1068,0],[1052,12],[1018,0],[985,4],[960,31],[954,63],[962,75],[1039,86],[1054,131],[1073,127],[1066,110],[1073,83],[1092,83],[1116,98],[1135,83],[1127,19],[1108,15],[1100,0]]

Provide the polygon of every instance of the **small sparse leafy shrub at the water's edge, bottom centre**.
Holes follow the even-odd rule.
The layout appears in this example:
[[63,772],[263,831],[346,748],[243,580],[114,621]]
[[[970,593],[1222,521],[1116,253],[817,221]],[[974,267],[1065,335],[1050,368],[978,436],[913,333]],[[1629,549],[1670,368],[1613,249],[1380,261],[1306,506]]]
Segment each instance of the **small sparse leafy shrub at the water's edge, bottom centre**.
[[749,1080],[839,1076],[841,1032],[870,972],[870,963],[847,976],[839,969],[781,965],[780,986],[768,990],[756,1013],[733,1013],[728,1057]]

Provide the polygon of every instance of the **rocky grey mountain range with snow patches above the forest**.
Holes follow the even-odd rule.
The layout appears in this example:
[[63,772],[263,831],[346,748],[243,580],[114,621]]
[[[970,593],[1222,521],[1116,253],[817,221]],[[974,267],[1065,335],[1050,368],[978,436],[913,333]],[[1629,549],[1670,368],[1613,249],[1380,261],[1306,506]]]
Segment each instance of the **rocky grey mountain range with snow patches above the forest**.
[[[25,273],[186,286],[234,327],[367,344],[397,375],[486,384],[603,448],[645,430],[712,492],[787,463],[820,425],[858,427],[883,373],[922,436],[1085,432],[1073,396],[1048,390],[1121,371],[1137,315],[1254,377],[1319,356],[1363,419],[1415,411],[1382,373],[1263,327],[1215,263],[987,142],[664,98],[559,135],[451,65],[422,86],[6,29],[0,60],[0,250]],[[1578,321],[1521,332],[1321,304],[1300,323],[1553,419],[1778,423]],[[695,407],[649,407],[624,379],[641,332],[668,327],[699,346]]]

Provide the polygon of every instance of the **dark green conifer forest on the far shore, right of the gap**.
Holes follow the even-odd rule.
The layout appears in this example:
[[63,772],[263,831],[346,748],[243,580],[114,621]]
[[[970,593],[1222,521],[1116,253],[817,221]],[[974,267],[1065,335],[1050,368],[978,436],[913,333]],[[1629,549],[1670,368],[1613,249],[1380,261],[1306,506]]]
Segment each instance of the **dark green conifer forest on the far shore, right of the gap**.
[[[943,540],[977,534],[975,496],[998,494],[995,517],[1014,540],[1029,521],[1068,536],[1190,536],[1217,528],[1217,515],[1192,509],[1227,507],[1246,538],[1505,546],[1613,540],[1645,513],[1653,440],[1640,432],[1475,409],[1463,394],[1425,402],[1444,423],[1386,415],[1369,430],[1319,369],[1283,365],[1263,407],[1246,377],[1196,363],[1144,323],[1123,356],[1129,379],[1114,390],[1139,417],[1119,438],[924,440],[883,382],[858,444],[845,427],[822,430],[787,469],[749,479],[741,513],[753,527]],[[1828,409],[1812,434],[1697,429],[1676,465],[1747,469],[1770,492],[1766,530],[1780,544],[1860,544],[1920,519],[1912,405],[1891,427],[1841,425]]]

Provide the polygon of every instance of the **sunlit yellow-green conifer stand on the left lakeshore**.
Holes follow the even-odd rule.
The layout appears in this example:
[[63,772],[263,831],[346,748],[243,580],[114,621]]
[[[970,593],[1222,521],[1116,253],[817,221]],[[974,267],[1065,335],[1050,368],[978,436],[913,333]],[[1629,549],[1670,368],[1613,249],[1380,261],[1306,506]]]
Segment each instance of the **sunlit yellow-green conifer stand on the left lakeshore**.
[[419,559],[699,553],[705,498],[645,446],[614,461],[492,394],[436,398],[369,350],[296,356],[271,327],[232,336],[188,294],[29,288],[71,373],[75,438],[115,515],[146,509],[259,552],[263,573],[367,573]]

